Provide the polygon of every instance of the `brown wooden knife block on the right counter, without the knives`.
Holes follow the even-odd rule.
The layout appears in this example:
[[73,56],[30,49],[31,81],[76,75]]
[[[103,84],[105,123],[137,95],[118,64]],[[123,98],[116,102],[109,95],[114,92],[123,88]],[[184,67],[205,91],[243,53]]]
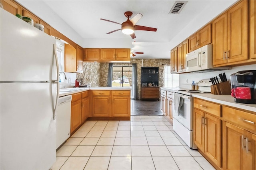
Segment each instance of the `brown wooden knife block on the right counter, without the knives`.
[[229,81],[221,82],[216,85],[211,85],[211,94],[214,95],[230,95],[231,85]]

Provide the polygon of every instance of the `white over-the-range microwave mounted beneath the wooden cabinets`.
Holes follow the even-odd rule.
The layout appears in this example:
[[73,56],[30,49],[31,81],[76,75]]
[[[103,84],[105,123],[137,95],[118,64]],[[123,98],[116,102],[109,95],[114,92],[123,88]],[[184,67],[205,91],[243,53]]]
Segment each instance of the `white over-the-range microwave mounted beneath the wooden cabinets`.
[[227,69],[231,69],[231,67],[213,67],[212,44],[205,45],[186,55],[186,72],[209,72]]

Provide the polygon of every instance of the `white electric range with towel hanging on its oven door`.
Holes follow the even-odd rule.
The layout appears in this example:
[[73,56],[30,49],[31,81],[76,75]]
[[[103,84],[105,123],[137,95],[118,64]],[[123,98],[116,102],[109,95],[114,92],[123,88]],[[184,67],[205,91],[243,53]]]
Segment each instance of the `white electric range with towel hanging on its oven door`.
[[[177,89],[174,90],[173,103],[176,106],[173,113],[173,129],[192,149],[197,149],[193,142],[193,97],[195,93],[210,94],[210,79],[198,82],[198,90]],[[178,102],[179,101],[179,102]],[[178,102],[178,103],[177,103]],[[174,106],[175,108],[175,106]]]

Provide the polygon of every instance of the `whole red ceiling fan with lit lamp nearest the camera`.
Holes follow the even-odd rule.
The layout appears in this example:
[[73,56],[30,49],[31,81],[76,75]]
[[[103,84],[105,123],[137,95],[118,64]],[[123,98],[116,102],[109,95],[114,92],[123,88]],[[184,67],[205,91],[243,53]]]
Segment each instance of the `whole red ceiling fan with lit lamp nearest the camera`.
[[135,25],[143,16],[140,13],[136,14],[131,20],[129,18],[132,16],[132,12],[130,12],[130,11],[124,12],[124,16],[127,17],[127,20],[125,22],[123,22],[122,24],[119,24],[119,23],[114,22],[114,21],[105,20],[105,19],[100,18],[100,20],[104,20],[104,21],[108,21],[108,22],[112,22],[112,23],[121,25],[121,29],[111,31],[111,32],[108,32],[106,34],[111,34],[113,32],[122,30],[122,33],[130,35],[132,37],[132,39],[134,39],[134,38],[136,38],[136,36],[134,34],[135,30],[154,31],[154,32],[156,32],[156,30],[157,30],[157,28],[151,28],[151,27]]

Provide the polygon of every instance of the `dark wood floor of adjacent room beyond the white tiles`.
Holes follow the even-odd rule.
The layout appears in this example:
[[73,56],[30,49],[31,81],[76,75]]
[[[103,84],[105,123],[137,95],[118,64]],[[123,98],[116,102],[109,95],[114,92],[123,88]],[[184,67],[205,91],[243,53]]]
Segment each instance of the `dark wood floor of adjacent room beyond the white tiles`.
[[131,100],[131,115],[163,115],[160,101]]

